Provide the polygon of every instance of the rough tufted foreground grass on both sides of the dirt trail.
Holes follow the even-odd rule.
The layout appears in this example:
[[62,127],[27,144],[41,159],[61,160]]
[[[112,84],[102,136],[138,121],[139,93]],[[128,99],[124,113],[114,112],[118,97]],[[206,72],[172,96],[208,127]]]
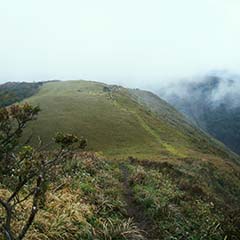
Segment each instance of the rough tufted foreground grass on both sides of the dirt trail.
[[[106,161],[93,153],[78,153],[58,167],[46,205],[26,239],[239,239],[238,202],[230,199],[230,192],[239,191],[237,177],[226,184],[224,174],[217,175],[219,169],[201,164]],[[226,184],[222,193],[212,184],[218,181]],[[0,195],[9,194],[0,185]],[[24,210],[30,201],[16,209],[19,217],[14,218],[14,231],[26,219]]]

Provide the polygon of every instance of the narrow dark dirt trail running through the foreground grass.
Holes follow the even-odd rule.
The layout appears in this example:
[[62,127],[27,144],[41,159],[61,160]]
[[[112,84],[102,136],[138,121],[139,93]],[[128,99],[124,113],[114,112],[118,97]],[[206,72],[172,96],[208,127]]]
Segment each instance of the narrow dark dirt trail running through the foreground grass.
[[129,217],[133,218],[137,227],[142,231],[145,240],[159,240],[160,236],[157,234],[153,228],[154,224],[143,212],[141,206],[137,205],[132,188],[129,184],[129,172],[126,166],[122,164],[120,169],[123,174],[123,187],[124,187],[124,198],[127,203],[127,214]]

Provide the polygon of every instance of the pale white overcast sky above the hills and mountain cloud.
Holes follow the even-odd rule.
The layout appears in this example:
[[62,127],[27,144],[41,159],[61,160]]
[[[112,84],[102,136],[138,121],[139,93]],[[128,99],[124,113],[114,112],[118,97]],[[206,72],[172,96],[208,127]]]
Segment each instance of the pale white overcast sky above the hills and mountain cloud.
[[0,82],[152,87],[240,69],[239,0],[2,0]]

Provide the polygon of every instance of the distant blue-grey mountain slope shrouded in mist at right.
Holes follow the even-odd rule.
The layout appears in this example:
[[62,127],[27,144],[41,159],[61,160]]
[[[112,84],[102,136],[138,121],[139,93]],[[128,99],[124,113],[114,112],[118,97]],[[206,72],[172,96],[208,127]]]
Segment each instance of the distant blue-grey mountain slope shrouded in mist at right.
[[175,86],[175,90],[170,90],[171,94],[160,95],[196,125],[239,154],[239,90],[239,77],[210,75],[200,82]]

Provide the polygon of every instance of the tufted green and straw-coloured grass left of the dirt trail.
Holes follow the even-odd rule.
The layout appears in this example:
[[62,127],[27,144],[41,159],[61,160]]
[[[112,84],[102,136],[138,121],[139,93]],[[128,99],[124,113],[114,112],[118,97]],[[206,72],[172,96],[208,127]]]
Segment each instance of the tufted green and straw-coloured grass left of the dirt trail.
[[[26,239],[143,239],[126,215],[119,179],[120,171],[114,163],[91,153],[75,156],[52,182],[46,205],[38,212]],[[0,193],[1,197],[10,194],[3,189]],[[28,209],[29,201],[16,209],[15,231],[25,221],[23,209]]]

